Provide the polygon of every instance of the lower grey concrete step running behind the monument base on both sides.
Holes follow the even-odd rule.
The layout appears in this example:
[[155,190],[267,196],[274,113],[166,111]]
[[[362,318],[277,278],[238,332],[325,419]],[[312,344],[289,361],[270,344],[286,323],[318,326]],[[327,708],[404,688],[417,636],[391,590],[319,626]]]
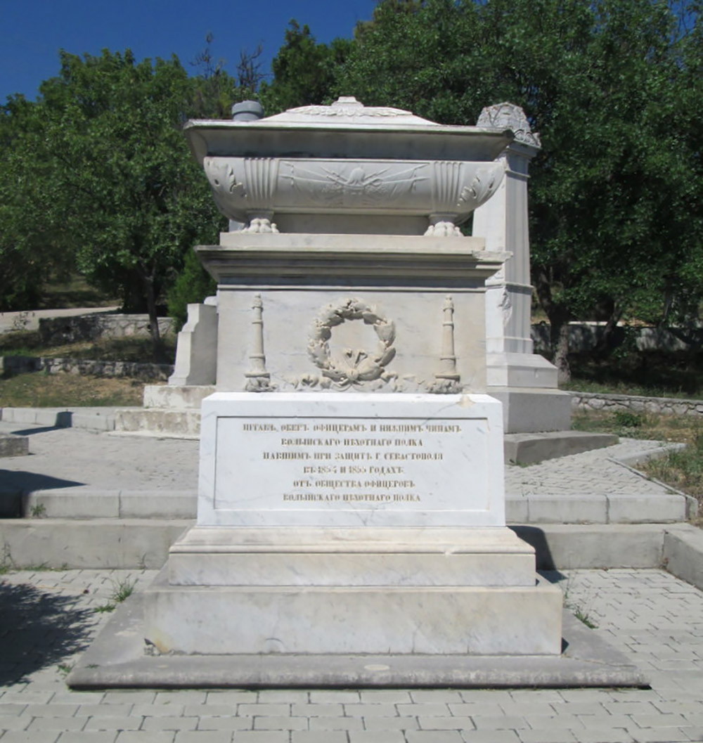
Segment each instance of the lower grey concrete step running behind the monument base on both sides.
[[[0,519],[14,567],[161,568],[190,519]],[[703,588],[703,532],[687,524],[514,525],[538,570],[662,568]]]

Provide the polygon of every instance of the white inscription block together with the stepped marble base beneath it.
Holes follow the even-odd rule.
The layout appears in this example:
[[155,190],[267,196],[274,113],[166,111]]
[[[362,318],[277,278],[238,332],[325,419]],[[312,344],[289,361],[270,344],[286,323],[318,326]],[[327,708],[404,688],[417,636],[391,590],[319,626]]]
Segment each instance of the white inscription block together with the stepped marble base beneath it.
[[487,395],[218,393],[199,487],[145,606],[160,652],[561,651],[560,589],[505,527]]

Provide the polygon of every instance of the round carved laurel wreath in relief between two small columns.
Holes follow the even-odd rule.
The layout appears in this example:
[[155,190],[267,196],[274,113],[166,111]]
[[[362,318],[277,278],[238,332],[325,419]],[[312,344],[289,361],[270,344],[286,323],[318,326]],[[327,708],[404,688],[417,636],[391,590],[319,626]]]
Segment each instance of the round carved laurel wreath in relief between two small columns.
[[[332,328],[346,320],[363,320],[365,325],[372,325],[378,337],[375,351],[364,351],[357,348],[345,348],[341,360],[334,360],[329,351],[329,340]],[[308,354],[323,377],[328,377],[341,386],[378,379],[384,367],[395,356],[393,341],[395,324],[380,317],[375,308],[364,304],[360,299],[347,299],[343,305],[330,305],[323,310],[313,325],[308,344]]]

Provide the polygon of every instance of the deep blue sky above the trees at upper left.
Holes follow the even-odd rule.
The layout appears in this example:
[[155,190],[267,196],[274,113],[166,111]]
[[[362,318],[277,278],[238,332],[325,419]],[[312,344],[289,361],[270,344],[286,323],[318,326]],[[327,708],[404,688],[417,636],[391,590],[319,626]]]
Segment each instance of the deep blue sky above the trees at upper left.
[[236,72],[239,51],[262,42],[262,71],[283,43],[291,18],[318,42],[352,36],[375,0],[0,0],[0,103],[8,95],[36,97],[42,80],[59,72],[59,49],[97,55],[132,49],[137,59],[178,56],[184,67],[212,32],[213,56]]

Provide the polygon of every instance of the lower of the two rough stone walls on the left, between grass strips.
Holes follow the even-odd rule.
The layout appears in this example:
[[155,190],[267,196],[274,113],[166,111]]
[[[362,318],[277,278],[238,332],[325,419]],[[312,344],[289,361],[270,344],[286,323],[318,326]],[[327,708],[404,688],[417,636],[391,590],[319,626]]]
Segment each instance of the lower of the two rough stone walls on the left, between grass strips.
[[88,359],[55,359],[46,356],[0,356],[0,375],[45,371],[58,374],[94,374],[96,377],[135,377],[144,380],[167,380],[172,364],[135,363],[132,361],[94,361]]

